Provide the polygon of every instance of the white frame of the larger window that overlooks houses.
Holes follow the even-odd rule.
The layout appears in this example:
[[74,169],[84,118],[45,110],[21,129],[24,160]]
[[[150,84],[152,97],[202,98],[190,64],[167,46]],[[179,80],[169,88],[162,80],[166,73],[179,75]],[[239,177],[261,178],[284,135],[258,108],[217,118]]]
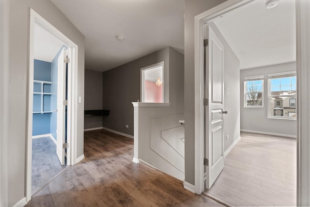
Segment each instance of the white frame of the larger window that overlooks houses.
[[[268,108],[267,108],[267,118],[268,119],[296,120],[296,117],[291,117],[291,116],[275,116],[275,115],[270,115],[270,110],[272,110],[272,114],[274,114],[274,109],[270,109],[271,80],[272,79],[280,79],[280,78],[289,78],[289,77],[295,77],[295,76],[296,76],[296,71],[268,74]],[[291,87],[292,87],[292,83],[291,83]],[[297,91],[297,85],[296,85],[296,91]],[[297,99],[297,96],[296,97],[292,96],[292,98]],[[275,101],[277,101],[277,99],[275,99]],[[282,102],[283,101],[281,101],[281,106],[279,106],[279,107],[283,107],[283,110],[284,110],[284,106],[282,106],[284,103],[282,104]],[[295,107],[297,107],[297,105]],[[296,111],[297,111],[297,108],[296,108]],[[284,113],[284,111],[283,111],[283,113]]]

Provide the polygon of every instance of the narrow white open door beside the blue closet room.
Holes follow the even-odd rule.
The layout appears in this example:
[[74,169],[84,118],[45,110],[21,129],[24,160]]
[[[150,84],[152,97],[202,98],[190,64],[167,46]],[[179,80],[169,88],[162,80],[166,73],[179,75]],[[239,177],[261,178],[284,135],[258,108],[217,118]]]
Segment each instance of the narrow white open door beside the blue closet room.
[[66,77],[66,48],[62,48],[62,51],[58,57],[58,75],[57,75],[57,156],[62,165],[64,161],[64,148],[62,144],[65,142],[65,106],[63,101],[65,100],[65,77]]

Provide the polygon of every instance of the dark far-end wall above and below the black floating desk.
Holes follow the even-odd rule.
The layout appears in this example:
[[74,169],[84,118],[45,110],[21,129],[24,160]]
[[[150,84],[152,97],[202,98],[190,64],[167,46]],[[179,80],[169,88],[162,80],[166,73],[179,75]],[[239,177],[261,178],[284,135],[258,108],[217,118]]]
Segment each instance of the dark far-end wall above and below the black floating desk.
[[[85,110],[102,109],[103,73],[85,70]],[[85,116],[84,129],[102,127],[102,116]]]

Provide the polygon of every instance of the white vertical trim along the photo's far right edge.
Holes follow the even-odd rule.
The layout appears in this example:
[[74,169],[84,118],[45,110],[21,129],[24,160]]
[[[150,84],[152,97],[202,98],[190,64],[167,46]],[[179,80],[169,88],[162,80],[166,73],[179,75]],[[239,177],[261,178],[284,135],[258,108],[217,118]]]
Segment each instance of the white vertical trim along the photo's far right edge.
[[310,1],[296,0],[297,206],[310,206]]

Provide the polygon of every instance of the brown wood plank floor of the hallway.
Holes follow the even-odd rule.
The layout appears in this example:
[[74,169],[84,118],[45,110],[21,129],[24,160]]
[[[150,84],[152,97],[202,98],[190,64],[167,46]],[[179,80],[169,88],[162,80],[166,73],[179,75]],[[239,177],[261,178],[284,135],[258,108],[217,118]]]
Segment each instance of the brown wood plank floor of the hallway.
[[133,140],[106,130],[84,133],[85,159],[31,197],[26,207],[223,206],[183,183],[135,164]]

